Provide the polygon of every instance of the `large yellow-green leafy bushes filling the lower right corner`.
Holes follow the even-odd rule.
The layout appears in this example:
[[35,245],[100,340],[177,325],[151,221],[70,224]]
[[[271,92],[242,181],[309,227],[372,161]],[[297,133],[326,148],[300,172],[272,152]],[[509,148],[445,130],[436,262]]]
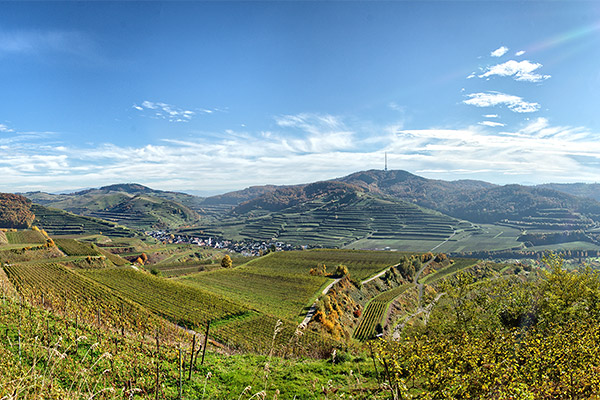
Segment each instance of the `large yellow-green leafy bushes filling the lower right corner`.
[[555,255],[529,276],[442,285],[425,327],[374,343],[394,398],[588,399],[600,394],[600,276]]

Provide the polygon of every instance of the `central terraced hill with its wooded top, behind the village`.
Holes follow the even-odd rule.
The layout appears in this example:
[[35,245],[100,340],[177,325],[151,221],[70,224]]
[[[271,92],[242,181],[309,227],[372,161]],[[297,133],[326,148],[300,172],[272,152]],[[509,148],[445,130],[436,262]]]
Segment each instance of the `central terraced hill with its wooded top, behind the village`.
[[424,250],[463,229],[477,230],[471,223],[342,182],[277,188],[240,204],[209,227],[237,240],[322,247],[352,247],[362,241],[359,248],[390,241],[395,248],[404,242]]

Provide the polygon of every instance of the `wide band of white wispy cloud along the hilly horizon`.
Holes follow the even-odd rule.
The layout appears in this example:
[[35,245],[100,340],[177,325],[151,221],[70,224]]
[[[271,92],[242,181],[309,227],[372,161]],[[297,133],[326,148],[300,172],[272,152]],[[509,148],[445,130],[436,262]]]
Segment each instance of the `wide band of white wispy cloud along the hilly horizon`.
[[556,126],[545,118],[501,130],[485,128],[502,126],[497,121],[463,129],[404,129],[402,124],[376,126],[308,113],[278,116],[275,122],[266,131],[198,134],[142,146],[73,147],[14,133],[21,141],[0,138],[0,191],[139,182],[157,189],[216,193],[381,169],[384,152],[390,168],[431,178],[596,181],[600,172],[596,134]]

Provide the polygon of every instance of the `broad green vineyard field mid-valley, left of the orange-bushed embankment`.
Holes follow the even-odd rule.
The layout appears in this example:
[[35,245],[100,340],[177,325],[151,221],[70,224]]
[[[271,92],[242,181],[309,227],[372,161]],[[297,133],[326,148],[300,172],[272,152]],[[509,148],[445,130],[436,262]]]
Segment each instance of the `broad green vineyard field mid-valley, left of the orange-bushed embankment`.
[[239,268],[198,273],[182,283],[231,298],[247,307],[292,321],[301,319],[328,278],[311,276],[311,268],[325,264],[329,272],[344,264],[350,277],[361,280],[397,264],[397,252],[310,250],[271,253]]

